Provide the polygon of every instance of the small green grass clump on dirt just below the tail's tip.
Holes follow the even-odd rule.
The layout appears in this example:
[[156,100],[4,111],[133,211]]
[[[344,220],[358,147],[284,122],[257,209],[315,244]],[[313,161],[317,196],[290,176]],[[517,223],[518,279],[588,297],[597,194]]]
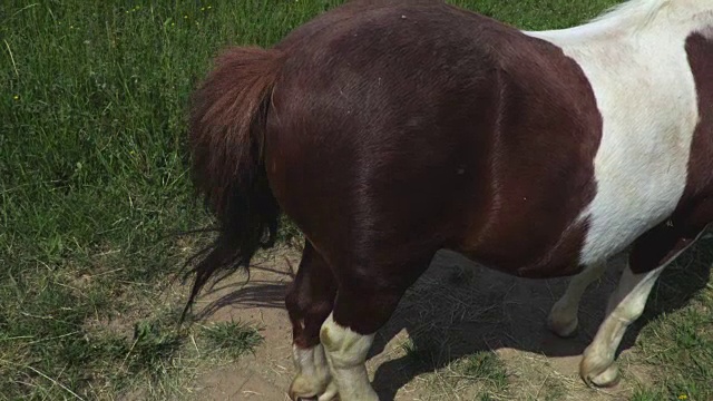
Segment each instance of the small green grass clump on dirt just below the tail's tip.
[[264,341],[257,329],[233,321],[203,326],[202,336],[212,352],[226,352],[232,358],[253,353]]

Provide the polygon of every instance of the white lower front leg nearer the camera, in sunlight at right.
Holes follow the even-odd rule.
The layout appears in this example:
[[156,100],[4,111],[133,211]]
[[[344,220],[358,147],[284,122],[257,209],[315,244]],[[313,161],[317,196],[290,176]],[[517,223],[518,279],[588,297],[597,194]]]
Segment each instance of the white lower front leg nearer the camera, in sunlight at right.
[[644,312],[646,300],[665,265],[643,274],[626,267],[616,291],[609,296],[607,313],[594,340],[584,351],[582,378],[598,387],[616,384],[618,371],[614,355],[626,329]]

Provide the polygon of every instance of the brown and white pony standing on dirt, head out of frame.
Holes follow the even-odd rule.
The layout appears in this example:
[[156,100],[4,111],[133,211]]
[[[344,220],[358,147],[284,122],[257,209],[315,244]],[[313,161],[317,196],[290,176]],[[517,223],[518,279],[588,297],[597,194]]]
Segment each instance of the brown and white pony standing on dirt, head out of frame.
[[631,250],[584,352],[615,351],[662,270],[713,221],[713,1],[632,0],[521,31],[438,0],[355,0],[272,49],[217,59],[195,92],[195,184],[219,236],[193,272],[306,243],[286,296],[290,395],[377,400],[374,332],[441,248],[522,277],[574,275],[548,324]]

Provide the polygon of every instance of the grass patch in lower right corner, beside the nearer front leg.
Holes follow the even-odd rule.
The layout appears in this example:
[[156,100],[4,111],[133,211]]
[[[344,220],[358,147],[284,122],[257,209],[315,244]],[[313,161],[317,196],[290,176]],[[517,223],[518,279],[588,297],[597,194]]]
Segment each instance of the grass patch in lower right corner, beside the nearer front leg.
[[[711,261],[706,238],[668,267],[654,288],[644,312],[653,320],[637,339],[641,354],[632,358],[655,371],[656,385],[642,389],[641,400],[713,400],[713,284],[705,268]],[[696,291],[695,283],[704,287]],[[667,310],[682,300],[684,307]]]

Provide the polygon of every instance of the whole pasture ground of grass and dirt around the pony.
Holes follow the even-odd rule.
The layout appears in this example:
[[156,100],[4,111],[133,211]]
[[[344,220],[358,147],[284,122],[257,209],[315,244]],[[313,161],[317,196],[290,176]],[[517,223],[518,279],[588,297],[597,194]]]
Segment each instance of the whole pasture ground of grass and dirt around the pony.
[[[223,47],[270,46],[341,2],[2,2],[0,400],[286,399],[294,227],[256,261],[248,302],[176,324],[177,273],[212,236],[185,233],[212,224],[186,172],[186,101]],[[549,29],[617,1],[450,2]],[[616,271],[585,299],[577,339],[558,340],[541,326],[563,281],[439,261],[379,336],[370,372],[384,399],[713,400],[710,238],[655,287],[614,390],[585,388],[577,362]]]

